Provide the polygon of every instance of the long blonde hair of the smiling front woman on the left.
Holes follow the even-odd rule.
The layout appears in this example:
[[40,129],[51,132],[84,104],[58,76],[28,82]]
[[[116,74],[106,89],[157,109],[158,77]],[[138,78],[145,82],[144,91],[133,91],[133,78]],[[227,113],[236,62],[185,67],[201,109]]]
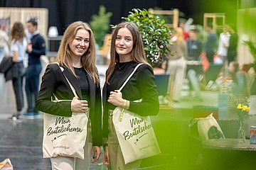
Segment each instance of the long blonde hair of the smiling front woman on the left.
[[77,77],[73,67],[73,52],[70,50],[69,44],[75,39],[75,35],[79,29],[87,30],[90,34],[89,47],[85,54],[81,57],[82,67],[85,68],[86,72],[90,75],[90,77],[92,77],[93,81],[96,84],[99,84],[100,81],[97,74],[97,68],[95,66],[95,39],[92,30],[90,29],[90,26],[87,23],[77,21],[68,26],[63,35],[63,39],[60,42],[60,48],[58,50],[58,56],[55,62],[59,62],[60,64],[65,65],[65,67],[68,67],[68,69],[70,69],[70,71],[75,75],[75,77]]

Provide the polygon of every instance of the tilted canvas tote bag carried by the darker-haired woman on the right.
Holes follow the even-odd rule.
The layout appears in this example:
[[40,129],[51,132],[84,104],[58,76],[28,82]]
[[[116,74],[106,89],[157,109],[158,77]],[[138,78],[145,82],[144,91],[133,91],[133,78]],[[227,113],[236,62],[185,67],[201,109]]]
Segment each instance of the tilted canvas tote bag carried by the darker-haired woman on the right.
[[[122,91],[127,81],[129,81],[140,65],[142,64],[138,64],[137,67],[135,67],[132,74],[129,75],[118,91]],[[117,138],[125,164],[160,154],[161,151],[149,116],[141,116],[131,111],[124,110],[122,121],[120,121],[121,112],[122,108],[115,108],[112,121],[114,129],[117,132]]]

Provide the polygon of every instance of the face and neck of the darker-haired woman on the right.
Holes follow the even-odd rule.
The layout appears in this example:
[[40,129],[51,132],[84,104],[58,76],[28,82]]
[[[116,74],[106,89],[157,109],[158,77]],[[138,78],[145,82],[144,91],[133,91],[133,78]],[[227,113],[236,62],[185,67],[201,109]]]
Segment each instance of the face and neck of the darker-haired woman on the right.
[[115,40],[115,50],[119,54],[120,62],[129,62],[132,60],[131,52],[134,41],[132,39],[132,33],[128,28],[120,28]]

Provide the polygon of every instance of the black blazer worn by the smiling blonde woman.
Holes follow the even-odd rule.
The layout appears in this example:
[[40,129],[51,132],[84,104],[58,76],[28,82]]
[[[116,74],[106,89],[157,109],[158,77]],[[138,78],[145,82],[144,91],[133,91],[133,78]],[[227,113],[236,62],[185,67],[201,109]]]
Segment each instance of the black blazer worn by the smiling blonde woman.
[[[53,93],[59,100],[72,100],[73,91],[65,77],[73,85],[78,97],[82,100],[82,92],[75,76],[67,67],[63,67],[63,72],[58,64],[48,64],[46,72],[42,77],[41,89],[36,101],[36,107],[39,111],[53,115],[71,116],[71,101],[53,102],[51,97]],[[65,77],[63,76],[65,74]],[[87,74],[87,73],[86,73]],[[90,89],[90,120],[92,123],[92,145],[102,145],[102,104],[100,85],[96,85],[87,74]]]

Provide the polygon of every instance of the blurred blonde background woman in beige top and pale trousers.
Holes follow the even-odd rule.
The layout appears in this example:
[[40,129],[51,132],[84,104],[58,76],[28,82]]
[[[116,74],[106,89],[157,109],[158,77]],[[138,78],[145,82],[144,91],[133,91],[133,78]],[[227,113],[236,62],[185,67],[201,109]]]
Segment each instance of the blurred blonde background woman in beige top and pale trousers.
[[183,40],[183,30],[181,28],[176,28],[175,30],[176,32],[174,32],[174,37],[171,38],[171,42],[175,43],[174,45],[169,46],[171,51],[175,52],[169,52],[167,72],[169,74],[174,73],[174,101],[177,102],[180,100],[181,96],[181,87],[186,70],[188,47],[187,42]]

